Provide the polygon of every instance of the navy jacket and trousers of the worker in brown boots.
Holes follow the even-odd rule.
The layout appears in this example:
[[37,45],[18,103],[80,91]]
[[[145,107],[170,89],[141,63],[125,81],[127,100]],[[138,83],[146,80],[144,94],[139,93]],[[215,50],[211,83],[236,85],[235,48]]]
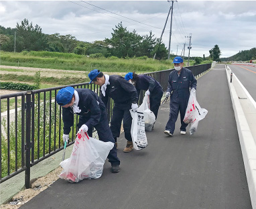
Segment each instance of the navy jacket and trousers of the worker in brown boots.
[[137,90],[125,78],[117,75],[109,76],[109,83],[107,85],[106,94],[102,96],[102,100],[107,107],[108,97],[113,98],[114,107],[111,119],[111,131],[115,140],[120,135],[121,123],[123,120],[123,129],[125,131],[125,139],[131,139],[131,104],[137,103]]

